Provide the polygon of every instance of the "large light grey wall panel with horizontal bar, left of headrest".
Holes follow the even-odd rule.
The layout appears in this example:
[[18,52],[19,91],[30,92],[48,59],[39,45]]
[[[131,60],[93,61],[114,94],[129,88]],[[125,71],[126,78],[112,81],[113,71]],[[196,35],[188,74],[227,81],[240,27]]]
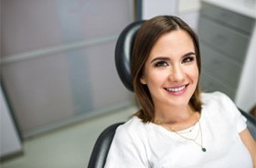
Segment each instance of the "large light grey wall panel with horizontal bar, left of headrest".
[[133,103],[114,65],[132,2],[2,1],[3,80],[25,136]]

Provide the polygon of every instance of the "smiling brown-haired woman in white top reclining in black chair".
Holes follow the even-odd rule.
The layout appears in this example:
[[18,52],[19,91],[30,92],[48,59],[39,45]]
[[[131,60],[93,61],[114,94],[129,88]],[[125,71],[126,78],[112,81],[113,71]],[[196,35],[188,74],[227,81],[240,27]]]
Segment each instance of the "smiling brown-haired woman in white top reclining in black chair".
[[256,144],[234,103],[200,93],[197,35],[181,19],[144,23],[132,71],[142,109],[117,129],[105,167],[256,166]]

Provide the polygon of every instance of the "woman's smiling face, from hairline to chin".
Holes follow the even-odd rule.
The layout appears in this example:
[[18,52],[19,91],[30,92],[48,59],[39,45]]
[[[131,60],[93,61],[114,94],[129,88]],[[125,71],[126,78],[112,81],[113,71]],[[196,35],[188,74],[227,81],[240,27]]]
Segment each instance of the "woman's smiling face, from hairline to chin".
[[187,106],[198,80],[192,38],[184,30],[160,37],[144,65],[141,83],[147,85],[155,109]]

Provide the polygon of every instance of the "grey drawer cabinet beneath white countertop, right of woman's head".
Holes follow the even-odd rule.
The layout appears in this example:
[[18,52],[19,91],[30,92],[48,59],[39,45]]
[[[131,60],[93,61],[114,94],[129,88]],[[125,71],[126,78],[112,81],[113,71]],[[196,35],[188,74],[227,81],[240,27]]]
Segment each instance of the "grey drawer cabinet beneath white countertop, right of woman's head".
[[204,91],[219,90],[235,100],[255,19],[202,2],[198,24]]

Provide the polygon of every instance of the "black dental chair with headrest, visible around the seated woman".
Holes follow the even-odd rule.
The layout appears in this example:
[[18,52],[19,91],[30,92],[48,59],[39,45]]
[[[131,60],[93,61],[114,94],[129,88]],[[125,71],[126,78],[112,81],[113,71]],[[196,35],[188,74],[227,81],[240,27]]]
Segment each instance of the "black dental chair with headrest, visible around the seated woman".
[[[117,40],[115,47],[115,65],[117,68],[118,75],[123,82],[126,89],[133,91],[133,77],[130,66],[130,59],[133,50],[133,41],[136,36],[137,30],[142,26],[144,21],[133,22],[129,26],[123,29],[120,37]],[[256,140],[256,120],[250,114],[240,110],[242,115],[247,118],[248,128],[252,134],[254,134],[254,139]],[[118,126],[124,122],[114,123],[104,131],[98,137],[94,144],[93,150],[91,152],[91,158],[88,164],[88,168],[102,168],[106,162],[106,158],[109,149],[112,144],[112,139],[115,130]]]

